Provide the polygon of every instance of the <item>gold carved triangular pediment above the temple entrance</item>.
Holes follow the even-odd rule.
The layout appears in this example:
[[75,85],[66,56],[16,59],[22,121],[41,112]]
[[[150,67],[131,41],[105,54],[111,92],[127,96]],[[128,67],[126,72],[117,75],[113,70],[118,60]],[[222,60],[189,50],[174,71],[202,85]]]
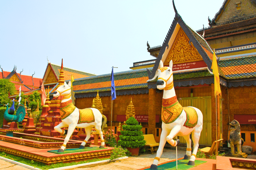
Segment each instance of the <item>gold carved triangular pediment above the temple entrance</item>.
[[169,65],[171,60],[174,64],[203,60],[193,43],[189,42],[189,38],[181,28],[164,61],[164,65]]

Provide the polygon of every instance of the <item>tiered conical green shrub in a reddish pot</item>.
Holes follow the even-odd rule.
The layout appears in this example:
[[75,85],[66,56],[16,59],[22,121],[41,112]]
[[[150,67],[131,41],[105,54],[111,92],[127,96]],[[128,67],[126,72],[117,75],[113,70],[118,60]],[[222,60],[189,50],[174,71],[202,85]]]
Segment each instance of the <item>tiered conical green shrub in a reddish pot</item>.
[[122,126],[122,135],[119,135],[118,145],[126,147],[132,156],[138,156],[140,147],[146,143],[141,131],[142,126],[134,117],[130,117],[125,124]]

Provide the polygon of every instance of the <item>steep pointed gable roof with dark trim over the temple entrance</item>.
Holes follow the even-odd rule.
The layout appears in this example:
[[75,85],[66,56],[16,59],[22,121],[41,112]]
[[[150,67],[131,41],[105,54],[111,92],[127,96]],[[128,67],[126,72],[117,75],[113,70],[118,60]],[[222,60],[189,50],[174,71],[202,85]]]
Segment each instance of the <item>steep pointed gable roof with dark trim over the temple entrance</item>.
[[[174,3],[173,3],[174,5]],[[208,69],[210,71],[212,71],[211,69],[211,64],[212,64],[212,56],[213,56],[213,51],[210,48],[210,46],[208,45],[208,43],[205,41],[205,39],[200,36],[197,32],[195,32],[192,28],[190,28],[181,18],[181,16],[178,14],[175,6],[174,6],[174,10],[175,10],[175,17],[174,20],[172,22],[172,25],[166,35],[166,38],[163,42],[163,45],[161,46],[159,55],[156,59],[156,63],[153,67],[152,72],[148,71],[149,74],[149,79],[152,79],[155,75],[155,72],[158,69],[160,60],[163,61],[164,65],[166,65],[166,63],[169,63],[168,56],[169,53],[171,53],[171,55],[175,55],[173,51],[170,51],[174,46],[176,45],[175,43],[177,43],[176,40],[177,37],[180,35],[182,38],[185,38],[185,40],[188,42],[187,44],[184,45],[184,41],[180,42],[181,43],[181,48],[183,48],[185,46],[185,48],[191,48],[194,50],[194,53],[189,54],[188,58],[197,56],[197,59],[195,61],[200,61],[202,60],[205,64],[206,67],[208,67]],[[180,33],[180,31],[182,31],[182,33]],[[175,48],[175,47],[174,47]],[[191,50],[189,50],[191,52]],[[181,55],[183,55],[183,52],[179,52]],[[180,55],[178,54],[178,55]],[[180,56],[174,56],[176,58],[181,58]],[[172,57],[171,59],[173,60]],[[190,59],[187,59],[190,60]],[[167,61],[167,62],[166,62]],[[173,60],[174,61],[174,60]],[[193,60],[191,60],[193,61]],[[183,61],[184,62],[189,62],[189,61]],[[177,62],[177,63],[181,63],[181,62]],[[175,61],[174,61],[175,64]]]

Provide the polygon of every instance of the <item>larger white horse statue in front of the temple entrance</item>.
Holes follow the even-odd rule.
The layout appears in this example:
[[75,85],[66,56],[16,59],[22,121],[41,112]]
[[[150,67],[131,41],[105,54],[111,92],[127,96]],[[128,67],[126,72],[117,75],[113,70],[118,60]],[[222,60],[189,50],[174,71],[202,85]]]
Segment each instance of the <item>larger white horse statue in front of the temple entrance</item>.
[[[163,101],[162,101],[162,133],[160,136],[159,148],[156,152],[156,157],[151,165],[150,169],[157,169],[157,164],[163,153],[163,148],[168,141],[172,146],[179,145],[179,139],[173,140],[178,136],[183,136],[187,142],[187,151],[184,159],[189,159],[188,165],[195,165],[196,153],[198,149],[198,141],[203,128],[203,115],[202,112],[194,107],[182,107],[176,97],[175,90],[173,88],[173,72],[172,72],[172,60],[169,63],[169,67],[164,67],[163,62],[160,61],[159,67],[156,71],[152,81],[158,76],[157,88],[164,89]],[[191,139],[189,134],[192,133],[192,139],[194,142],[193,153],[191,154]]]

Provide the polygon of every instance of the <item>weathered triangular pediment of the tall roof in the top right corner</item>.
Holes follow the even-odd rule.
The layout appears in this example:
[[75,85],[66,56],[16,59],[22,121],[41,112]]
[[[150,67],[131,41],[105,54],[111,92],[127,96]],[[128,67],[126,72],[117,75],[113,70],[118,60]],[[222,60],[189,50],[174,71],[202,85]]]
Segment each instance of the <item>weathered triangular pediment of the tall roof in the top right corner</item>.
[[235,20],[243,20],[256,14],[256,6],[250,0],[230,0],[224,8],[215,21],[217,25]]

